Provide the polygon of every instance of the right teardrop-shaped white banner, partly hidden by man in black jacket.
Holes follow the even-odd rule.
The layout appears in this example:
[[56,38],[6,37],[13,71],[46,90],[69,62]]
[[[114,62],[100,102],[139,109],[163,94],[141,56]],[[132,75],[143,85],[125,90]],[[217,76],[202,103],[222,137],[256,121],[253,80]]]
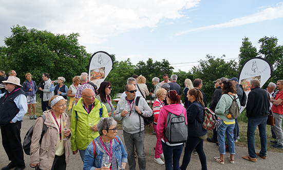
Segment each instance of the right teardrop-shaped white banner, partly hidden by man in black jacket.
[[[272,75],[270,62],[261,57],[253,57],[243,63],[238,74],[239,83],[243,86],[243,91],[248,96],[250,89],[250,81],[257,79],[260,82],[260,88],[267,82]],[[241,107],[241,111],[244,107]],[[240,112],[241,112],[240,111]]]

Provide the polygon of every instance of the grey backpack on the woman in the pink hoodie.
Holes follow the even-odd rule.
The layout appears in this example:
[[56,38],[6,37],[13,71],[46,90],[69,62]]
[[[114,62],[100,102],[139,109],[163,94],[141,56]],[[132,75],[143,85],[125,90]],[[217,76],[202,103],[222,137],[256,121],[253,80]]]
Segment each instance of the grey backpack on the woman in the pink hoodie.
[[164,136],[170,144],[186,142],[187,125],[183,113],[179,116],[171,112],[168,113]]

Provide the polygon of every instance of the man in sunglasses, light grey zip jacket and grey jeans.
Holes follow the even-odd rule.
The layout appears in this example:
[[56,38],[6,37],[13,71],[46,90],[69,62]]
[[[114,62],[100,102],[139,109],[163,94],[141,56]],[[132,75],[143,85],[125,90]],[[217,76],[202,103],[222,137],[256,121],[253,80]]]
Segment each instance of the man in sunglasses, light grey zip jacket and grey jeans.
[[139,169],[144,170],[146,165],[144,154],[144,121],[141,117],[150,117],[153,111],[146,100],[140,97],[137,103],[136,87],[128,83],[125,87],[126,97],[117,104],[114,119],[122,121],[123,135],[128,153],[129,169],[136,169],[135,148],[138,154]]

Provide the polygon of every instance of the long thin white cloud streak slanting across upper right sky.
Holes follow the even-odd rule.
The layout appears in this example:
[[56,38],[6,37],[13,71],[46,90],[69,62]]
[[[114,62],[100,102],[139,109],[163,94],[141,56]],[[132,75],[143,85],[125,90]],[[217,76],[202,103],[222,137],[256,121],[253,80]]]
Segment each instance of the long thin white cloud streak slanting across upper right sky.
[[185,33],[199,32],[199,31],[209,30],[209,29],[236,27],[236,26],[258,23],[264,20],[272,20],[272,19],[281,18],[281,17],[283,17],[283,3],[277,4],[275,8],[263,9],[260,12],[255,13],[250,16],[244,16],[244,17],[232,19],[227,23],[190,29],[190,30],[176,33],[175,35],[178,36],[178,35],[185,34]]

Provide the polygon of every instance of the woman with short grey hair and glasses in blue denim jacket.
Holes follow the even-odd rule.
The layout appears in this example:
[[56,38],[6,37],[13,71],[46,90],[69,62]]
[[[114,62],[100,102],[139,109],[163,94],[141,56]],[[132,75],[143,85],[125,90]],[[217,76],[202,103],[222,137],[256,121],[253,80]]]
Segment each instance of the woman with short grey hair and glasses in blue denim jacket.
[[124,169],[127,153],[117,136],[117,122],[112,117],[100,118],[97,127],[100,136],[86,147],[84,170]]

